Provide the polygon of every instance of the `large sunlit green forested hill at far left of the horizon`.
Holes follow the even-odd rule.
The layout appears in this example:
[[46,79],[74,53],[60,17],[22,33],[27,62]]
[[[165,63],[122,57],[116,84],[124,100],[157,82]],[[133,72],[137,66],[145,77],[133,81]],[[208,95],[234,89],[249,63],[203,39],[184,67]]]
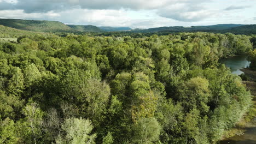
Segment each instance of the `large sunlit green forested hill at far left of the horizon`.
[[34,32],[74,32],[74,29],[58,21],[0,19],[0,25]]

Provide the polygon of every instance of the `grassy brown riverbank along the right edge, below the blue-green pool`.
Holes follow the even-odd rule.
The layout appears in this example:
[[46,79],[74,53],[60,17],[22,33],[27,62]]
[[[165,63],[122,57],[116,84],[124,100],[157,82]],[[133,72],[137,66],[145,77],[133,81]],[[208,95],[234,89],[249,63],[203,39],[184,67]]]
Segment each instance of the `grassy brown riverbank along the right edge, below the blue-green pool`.
[[249,108],[246,115],[236,124],[235,128],[225,131],[223,140],[220,144],[224,143],[256,143],[256,71],[248,68],[241,69],[245,75],[249,76],[252,81],[243,81],[253,96],[252,106]]

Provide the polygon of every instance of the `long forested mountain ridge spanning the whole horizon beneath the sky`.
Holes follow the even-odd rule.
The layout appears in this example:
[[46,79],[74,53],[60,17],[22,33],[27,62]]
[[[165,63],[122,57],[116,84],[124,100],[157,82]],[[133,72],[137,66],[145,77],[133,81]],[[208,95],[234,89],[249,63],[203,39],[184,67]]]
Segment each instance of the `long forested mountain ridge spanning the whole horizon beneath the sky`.
[[132,29],[130,27],[97,27],[92,25],[65,25],[59,21],[0,19],[0,25],[33,32],[80,33],[80,32],[118,32],[131,33],[173,33],[173,32],[214,32],[235,34],[256,34],[256,25],[219,24],[211,26],[191,27],[156,27],[148,29]]

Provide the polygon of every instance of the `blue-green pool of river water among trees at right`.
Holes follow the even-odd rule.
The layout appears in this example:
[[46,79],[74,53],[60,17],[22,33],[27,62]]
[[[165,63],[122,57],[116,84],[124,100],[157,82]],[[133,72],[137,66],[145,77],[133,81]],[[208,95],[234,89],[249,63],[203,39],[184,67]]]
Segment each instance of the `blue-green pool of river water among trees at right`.
[[240,69],[249,67],[251,62],[247,61],[247,56],[234,56],[220,60],[220,63],[224,63],[226,67],[229,67],[232,74],[241,75],[243,72]]

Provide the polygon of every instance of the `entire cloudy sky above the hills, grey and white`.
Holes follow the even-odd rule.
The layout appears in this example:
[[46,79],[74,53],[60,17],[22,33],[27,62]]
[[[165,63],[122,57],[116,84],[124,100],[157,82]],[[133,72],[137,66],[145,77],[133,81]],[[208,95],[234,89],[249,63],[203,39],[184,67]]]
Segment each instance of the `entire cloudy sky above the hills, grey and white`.
[[256,0],[0,0],[0,18],[131,28],[256,23]]

